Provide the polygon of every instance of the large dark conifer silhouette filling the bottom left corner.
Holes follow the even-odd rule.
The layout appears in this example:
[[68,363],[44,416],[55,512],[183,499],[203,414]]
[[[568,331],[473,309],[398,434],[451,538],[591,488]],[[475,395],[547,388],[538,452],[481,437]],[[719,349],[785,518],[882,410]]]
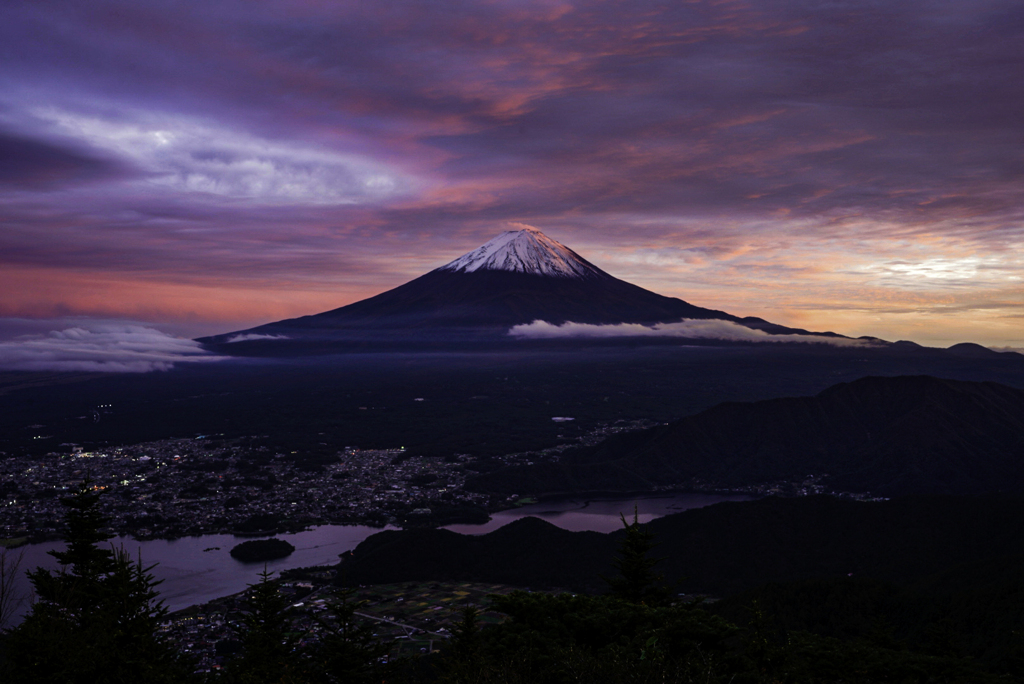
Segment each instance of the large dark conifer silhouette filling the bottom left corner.
[[190,668],[157,634],[166,609],[141,559],[108,545],[99,495],[88,483],[61,503],[68,547],[51,552],[52,572],[29,578],[36,602],[6,637],[9,684],[163,684],[186,682]]

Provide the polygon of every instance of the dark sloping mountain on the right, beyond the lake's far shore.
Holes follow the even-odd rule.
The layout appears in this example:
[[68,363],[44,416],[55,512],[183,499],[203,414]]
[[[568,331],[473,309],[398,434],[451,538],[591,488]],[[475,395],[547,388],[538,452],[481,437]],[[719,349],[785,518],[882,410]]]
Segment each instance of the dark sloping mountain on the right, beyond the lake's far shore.
[[834,490],[1024,491],[1024,391],[929,376],[869,377],[811,397],[726,402],[664,427],[481,475],[488,491],[739,486],[827,474]]

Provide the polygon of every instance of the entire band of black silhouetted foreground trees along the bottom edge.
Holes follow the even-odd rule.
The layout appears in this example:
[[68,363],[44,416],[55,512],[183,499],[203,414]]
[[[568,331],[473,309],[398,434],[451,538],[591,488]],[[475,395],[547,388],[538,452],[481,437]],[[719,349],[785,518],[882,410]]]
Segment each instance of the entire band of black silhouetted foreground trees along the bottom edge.
[[[66,500],[68,548],[57,572],[30,573],[31,613],[6,635],[3,684],[169,684],[195,680],[161,640],[165,610],[139,559],[106,543],[97,495]],[[466,606],[440,653],[386,662],[391,644],[360,624],[347,597],[315,626],[299,624],[264,571],[252,587],[238,631],[241,653],[211,675],[216,684],[944,684],[1014,681],[956,655],[914,651],[883,638],[837,639],[785,632],[754,603],[729,622],[703,604],[673,601],[654,572],[653,540],[627,523],[604,596],[514,592],[490,606]],[[724,603],[724,602],[723,602]],[[485,612],[479,612],[486,608]],[[494,622],[490,609],[504,613]],[[848,607],[846,612],[855,610]],[[1013,629],[1016,627],[1011,626]],[[1019,636],[1018,632],[1014,633]],[[955,650],[945,652],[955,653]],[[1017,667],[1017,666],[1014,666]],[[1014,671],[1016,672],[1016,671]],[[1002,673],[1007,673],[1002,676]]]

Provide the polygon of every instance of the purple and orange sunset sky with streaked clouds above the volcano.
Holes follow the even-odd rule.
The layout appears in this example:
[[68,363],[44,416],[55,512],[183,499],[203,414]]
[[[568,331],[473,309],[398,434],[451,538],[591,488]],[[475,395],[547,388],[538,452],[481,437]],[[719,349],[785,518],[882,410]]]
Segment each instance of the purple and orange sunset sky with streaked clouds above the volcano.
[[313,313],[531,225],[699,306],[1024,347],[1020,0],[0,0],[0,329]]

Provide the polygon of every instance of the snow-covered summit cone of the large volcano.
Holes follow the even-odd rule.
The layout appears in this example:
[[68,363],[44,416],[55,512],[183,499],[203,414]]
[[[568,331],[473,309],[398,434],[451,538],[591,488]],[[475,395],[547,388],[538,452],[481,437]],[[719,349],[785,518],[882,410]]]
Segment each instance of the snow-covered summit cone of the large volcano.
[[593,277],[602,271],[534,227],[506,230],[437,270],[508,270],[553,277]]

